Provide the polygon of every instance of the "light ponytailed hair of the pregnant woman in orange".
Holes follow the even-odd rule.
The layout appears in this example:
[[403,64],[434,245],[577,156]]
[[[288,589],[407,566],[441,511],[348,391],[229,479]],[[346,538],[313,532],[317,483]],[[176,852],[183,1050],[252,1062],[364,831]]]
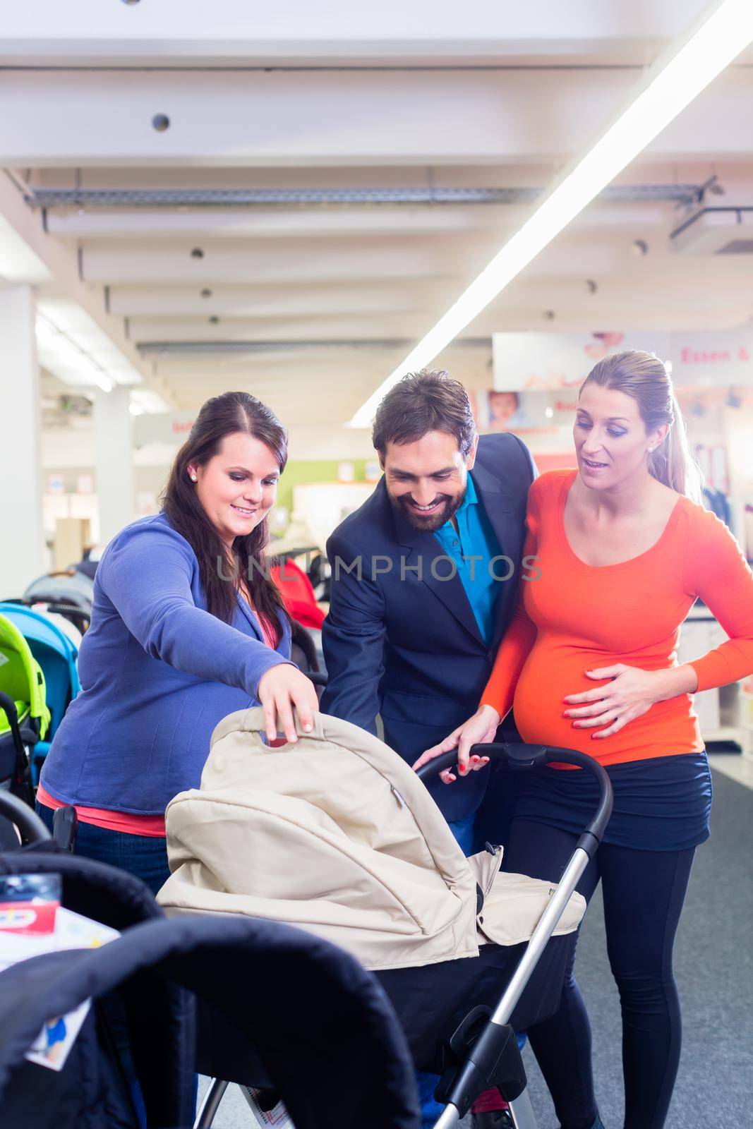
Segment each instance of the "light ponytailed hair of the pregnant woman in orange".
[[701,472],[690,449],[685,420],[664,361],[638,349],[612,353],[594,365],[578,396],[587,384],[632,396],[647,431],[669,425],[664,441],[648,456],[649,473],[677,493],[700,501]]

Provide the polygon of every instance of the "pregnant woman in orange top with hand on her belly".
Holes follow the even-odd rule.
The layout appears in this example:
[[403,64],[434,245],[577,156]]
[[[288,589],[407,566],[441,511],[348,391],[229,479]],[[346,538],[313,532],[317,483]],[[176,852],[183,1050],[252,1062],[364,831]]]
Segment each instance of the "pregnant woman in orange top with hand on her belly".
[[[704,510],[664,365],[642,352],[599,361],[579,395],[578,470],[531,487],[516,618],[478,712],[417,767],[492,741],[508,710],[524,741],[579,749],[607,769],[614,812],[581,893],[599,879],[620,990],[625,1129],[662,1129],[680,1059],[672,947],[695,847],[708,838],[711,780],[691,694],[753,671],[753,576],[726,526]],[[697,597],[729,636],[677,665]],[[589,779],[586,779],[588,777]],[[444,773],[447,784],[456,773]],[[505,869],[549,881],[595,803],[590,773],[520,779]],[[561,870],[560,870],[561,873]],[[558,1013],[528,1032],[562,1129],[602,1124],[588,1016],[572,978]]]

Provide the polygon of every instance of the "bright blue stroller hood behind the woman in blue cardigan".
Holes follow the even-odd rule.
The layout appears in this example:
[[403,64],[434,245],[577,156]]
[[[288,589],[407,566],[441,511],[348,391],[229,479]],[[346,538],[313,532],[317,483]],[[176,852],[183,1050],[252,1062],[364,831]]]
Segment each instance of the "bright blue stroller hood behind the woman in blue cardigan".
[[78,677],[78,649],[70,637],[46,613],[23,604],[0,603],[0,614],[24,636],[44,675],[45,703],[50,725],[44,739],[37,741],[32,755],[34,784],[50,751],[50,743],[73,698],[81,689]]

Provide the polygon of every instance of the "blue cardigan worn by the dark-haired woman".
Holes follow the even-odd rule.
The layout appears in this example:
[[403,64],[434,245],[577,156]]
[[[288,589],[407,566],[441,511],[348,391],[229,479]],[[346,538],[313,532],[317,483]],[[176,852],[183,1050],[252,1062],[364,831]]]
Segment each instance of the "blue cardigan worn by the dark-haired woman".
[[274,651],[240,596],[231,625],[205,609],[196,555],[165,514],[107,545],[81,641],[82,692],[42,769],[51,796],[156,815],[199,787],[214,726],[256,704],[262,675],[290,658],[283,616]]

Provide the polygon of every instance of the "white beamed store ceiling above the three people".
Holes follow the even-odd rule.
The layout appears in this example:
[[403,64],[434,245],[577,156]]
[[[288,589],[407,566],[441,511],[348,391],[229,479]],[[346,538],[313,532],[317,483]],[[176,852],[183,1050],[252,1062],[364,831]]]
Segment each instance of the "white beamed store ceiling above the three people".
[[[291,426],[343,423],[531,208],[444,190],[544,186],[702,7],[214,0],[208,40],[199,2],[37,0],[0,47],[0,213],[45,317],[102,357],[107,334],[117,380],[186,410],[245,387]],[[751,121],[747,53],[440,360],[483,385],[497,330],[747,322],[753,256],[668,236],[684,185],[753,203]]]

